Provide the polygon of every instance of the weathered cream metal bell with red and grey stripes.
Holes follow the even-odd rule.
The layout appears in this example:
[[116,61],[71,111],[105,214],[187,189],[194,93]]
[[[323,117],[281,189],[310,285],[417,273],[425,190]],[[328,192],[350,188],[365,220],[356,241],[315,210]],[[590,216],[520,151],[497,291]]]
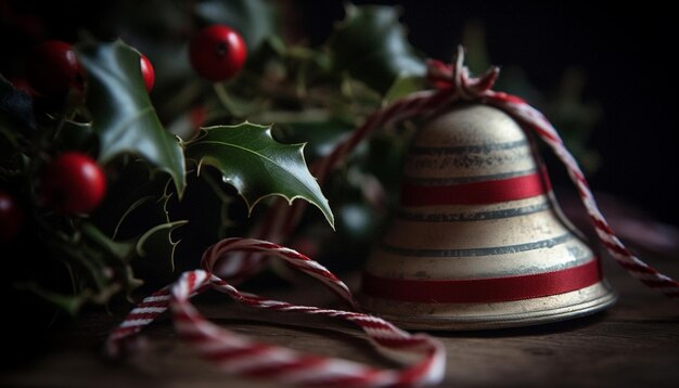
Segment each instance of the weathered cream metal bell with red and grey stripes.
[[400,205],[366,262],[361,305],[408,328],[561,321],[615,301],[509,115],[460,104],[417,134]]

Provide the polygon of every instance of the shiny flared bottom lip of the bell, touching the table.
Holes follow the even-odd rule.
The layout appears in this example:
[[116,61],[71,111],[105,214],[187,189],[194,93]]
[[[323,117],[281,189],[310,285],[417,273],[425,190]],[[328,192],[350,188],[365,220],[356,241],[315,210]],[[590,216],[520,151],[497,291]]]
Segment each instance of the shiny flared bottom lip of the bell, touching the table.
[[[592,284],[592,286],[602,287],[604,293],[595,298],[586,299],[577,303],[564,305],[545,310],[527,311],[523,313],[500,313],[476,316],[426,316],[388,313],[383,314],[379,311],[369,312],[406,329],[454,332],[536,326],[592,315],[607,309],[617,301],[617,293],[605,280]],[[362,297],[364,296],[360,295],[359,300]]]

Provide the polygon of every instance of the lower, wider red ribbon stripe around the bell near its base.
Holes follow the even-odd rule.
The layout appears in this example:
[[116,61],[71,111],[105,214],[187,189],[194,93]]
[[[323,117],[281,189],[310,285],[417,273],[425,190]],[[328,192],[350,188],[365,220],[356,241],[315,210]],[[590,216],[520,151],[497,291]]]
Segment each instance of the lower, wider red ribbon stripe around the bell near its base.
[[369,297],[420,303],[487,303],[565,294],[601,281],[599,259],[565,270],[528,275],[470,279],[389,279],[363,273]]

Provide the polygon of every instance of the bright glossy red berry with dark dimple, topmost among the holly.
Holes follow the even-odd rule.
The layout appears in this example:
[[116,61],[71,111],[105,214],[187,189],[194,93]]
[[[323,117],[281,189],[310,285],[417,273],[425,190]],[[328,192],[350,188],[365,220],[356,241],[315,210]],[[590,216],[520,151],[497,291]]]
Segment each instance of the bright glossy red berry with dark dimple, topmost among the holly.
[[210,81],[233,77],[243,67],[246,57],[247,48],[241,35],[222,25],[203,28],[189,44],[191,65]]

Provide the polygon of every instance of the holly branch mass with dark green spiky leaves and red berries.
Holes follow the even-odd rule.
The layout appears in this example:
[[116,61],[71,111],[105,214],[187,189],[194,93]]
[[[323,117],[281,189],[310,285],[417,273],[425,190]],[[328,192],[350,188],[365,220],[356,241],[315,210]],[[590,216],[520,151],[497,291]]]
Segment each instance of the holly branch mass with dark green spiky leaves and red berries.
[[[347,7],[311,47],[286,39],[271,2],[207,3],[175,23],[171,7],[116,2],[130,17],[111,17],[114,31],[46,41],[10,72],[24,81],[2,79],[1,244],[21,253],[5,260],[16,279],[1,283],[74,314],[133,298],[194,269],[219,238],[256,230],[277,197],[322,214],[280,243],[321,261],[368,248],[388,192],[374,182],[393,184],[406,139],[375,135],[324,187],[307,166],[422,88],[398,12]],[[121,38],[95,38],[111,36]]]

